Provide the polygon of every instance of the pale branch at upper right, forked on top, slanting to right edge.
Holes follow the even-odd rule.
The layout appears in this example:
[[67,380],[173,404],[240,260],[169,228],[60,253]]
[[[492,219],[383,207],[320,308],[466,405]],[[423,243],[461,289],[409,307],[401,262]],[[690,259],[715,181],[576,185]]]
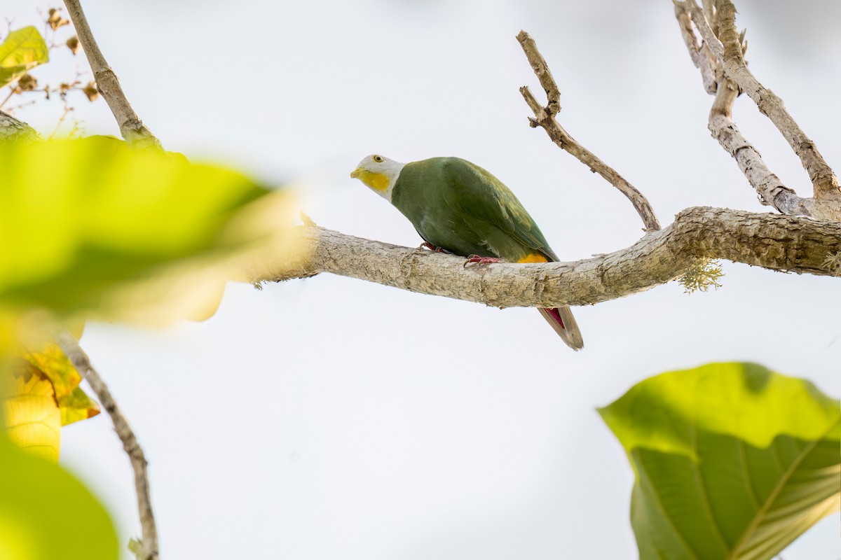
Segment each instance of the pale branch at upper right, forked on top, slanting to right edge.
[[717,24],[722,31],[722,39],[726,41],[726,44],[722,44],[695,0],[686,0],[686,2],[689,5],[693,23],[701,33],[706,46],[722,62],[727,77],[736,82],[743,92],[754,100],[759,107],[759,112],[770,118],[800,158],[814,187],[812,216],[818,219],[841,221],[841,186],[838,184],[838,177],[817,151],[812,140],[803,133],[785,110],[780,97],[762,86],[748,70],[736,33],[736,8],[733,3],[729,0],[717,0]]

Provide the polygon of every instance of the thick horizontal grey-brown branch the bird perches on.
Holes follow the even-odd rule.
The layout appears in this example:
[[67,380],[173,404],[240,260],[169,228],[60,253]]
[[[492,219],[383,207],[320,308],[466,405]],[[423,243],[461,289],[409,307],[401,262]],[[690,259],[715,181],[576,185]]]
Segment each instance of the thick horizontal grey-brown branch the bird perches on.
[[683,275],[696,258],[727,259],[770,270],[841,276],[841,223],[694,207],[669,227],[615,253],[574,263],[468,265],[451,255],[302,227],[299,260],[255,281],[330,272],[404,290],[488,306],[581,306],[648,290]]

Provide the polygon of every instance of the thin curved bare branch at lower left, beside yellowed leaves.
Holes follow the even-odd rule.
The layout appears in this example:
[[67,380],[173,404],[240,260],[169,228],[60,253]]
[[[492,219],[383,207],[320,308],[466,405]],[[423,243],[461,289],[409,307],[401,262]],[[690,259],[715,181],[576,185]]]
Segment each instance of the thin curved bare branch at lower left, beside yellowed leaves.
[[99,402],[108,411],[111,421],[114,422],[114,430],[123,442],[125,453],[128,453],[131,467],[135,470],[135,490],[137,492],[137,509],[140,511],[140,526],[143,531],[143,540],[140,543],[142,560],[158,560],[157,528],[155,516],[152,513],[151,499],[149,496],[149,474],[146,472],[146,458],[140,443],[137,442],[135,433],[131,431],[129,422],[126,421],[123,412],[119,410],[117,402],[108,390],[108,385],[96,369],[93,369],[87,354],[79,347],[79,343],[69,332],[57,332],[56,341],[61,349],[70,359],[73,366],[82,377],[87,379],[93,392],[97,394]]

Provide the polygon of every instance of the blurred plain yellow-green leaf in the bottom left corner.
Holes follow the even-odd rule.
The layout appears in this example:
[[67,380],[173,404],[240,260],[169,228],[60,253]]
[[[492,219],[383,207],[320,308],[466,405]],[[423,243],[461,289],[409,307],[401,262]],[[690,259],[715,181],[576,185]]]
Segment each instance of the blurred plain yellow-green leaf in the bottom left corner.
[[93,495],[62,468],[0,437],[0,558],[118,557],[114,525]]

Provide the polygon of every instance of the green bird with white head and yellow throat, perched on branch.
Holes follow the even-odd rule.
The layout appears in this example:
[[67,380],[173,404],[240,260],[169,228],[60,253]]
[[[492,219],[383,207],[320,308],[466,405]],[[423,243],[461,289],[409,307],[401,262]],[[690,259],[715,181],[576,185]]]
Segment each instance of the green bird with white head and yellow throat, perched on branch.
[[[400,163],[371,154],[359,162],[351,177],[409,218],[428,249],[477,263],[558,260],[514,193],[468,160],[436,157]],[[569,307],[538,310],[569,348],[584,348]]]

